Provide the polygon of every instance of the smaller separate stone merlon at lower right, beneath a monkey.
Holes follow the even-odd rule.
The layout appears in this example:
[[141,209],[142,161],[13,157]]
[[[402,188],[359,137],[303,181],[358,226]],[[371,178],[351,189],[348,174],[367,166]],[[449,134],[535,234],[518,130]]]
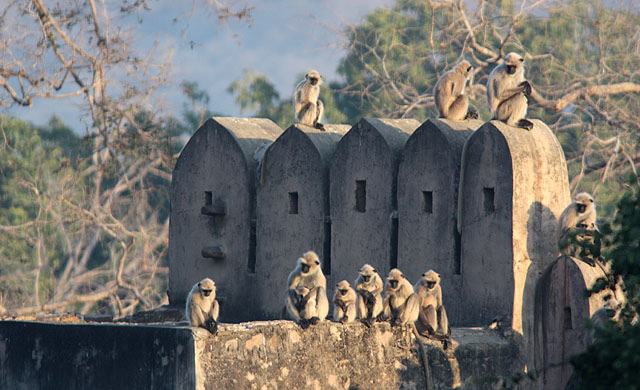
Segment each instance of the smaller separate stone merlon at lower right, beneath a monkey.
[[620,292],[604,290],[586,297],[605,273],[575,257],[560,256],[542,274],[536,288],[535,363],[541,372],[540,389],[564,389],[573,372],[572,355],[584,352],[590,342],[587,320],[610,295],[622,300]]

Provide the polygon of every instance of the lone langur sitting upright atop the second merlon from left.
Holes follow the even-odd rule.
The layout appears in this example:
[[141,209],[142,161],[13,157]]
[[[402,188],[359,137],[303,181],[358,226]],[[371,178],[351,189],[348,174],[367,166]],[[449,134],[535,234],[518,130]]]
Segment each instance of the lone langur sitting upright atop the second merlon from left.
[[324,130],[320,118],[324,112],[324,104],[318,99],[320,96],[322,76],[315,70],[309,71],[304,80],[298,83],[293,96],[293,109],[296,119],[303,125],[312,126]]

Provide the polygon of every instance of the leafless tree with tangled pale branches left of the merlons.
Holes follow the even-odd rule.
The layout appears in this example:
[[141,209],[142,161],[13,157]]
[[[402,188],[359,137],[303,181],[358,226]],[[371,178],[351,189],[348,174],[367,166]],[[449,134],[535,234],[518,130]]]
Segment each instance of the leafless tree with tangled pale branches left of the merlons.
[[[220,21],[251,14],[222,0],[205,5]],[[175,140],[162,131],[150,99],[167,82],[170,58],[155,47],[138,52],[129,28],[148,6],[145,0],[0,6],[0,107],[81,97],[92,143],[77,170],[25,177],[37,217],[0,226],[0,234],[31,249],[23,269],[1,276],[31,286],[0,302],[11,314],[75,310],[122,317],[166,300]]]

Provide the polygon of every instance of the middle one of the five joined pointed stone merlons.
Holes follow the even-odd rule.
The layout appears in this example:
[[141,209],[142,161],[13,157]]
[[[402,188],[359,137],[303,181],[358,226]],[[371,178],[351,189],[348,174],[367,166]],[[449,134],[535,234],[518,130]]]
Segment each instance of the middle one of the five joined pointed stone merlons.
[[397,265],[396,178],[414,119],[360,120],[331,160],[331,268],[353,281],[369,263],[381,275]]

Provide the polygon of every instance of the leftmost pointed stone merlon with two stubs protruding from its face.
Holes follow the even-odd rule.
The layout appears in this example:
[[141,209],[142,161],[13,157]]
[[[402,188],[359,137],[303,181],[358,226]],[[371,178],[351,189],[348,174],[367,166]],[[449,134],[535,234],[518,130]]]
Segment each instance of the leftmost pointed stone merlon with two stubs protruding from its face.
[[255,273],[255,171],[282,133],[268,119],[212,118],[180,153],[171,182],[169,300],[184,304],[194,283],[218,287],[222,321],[258,312]]

